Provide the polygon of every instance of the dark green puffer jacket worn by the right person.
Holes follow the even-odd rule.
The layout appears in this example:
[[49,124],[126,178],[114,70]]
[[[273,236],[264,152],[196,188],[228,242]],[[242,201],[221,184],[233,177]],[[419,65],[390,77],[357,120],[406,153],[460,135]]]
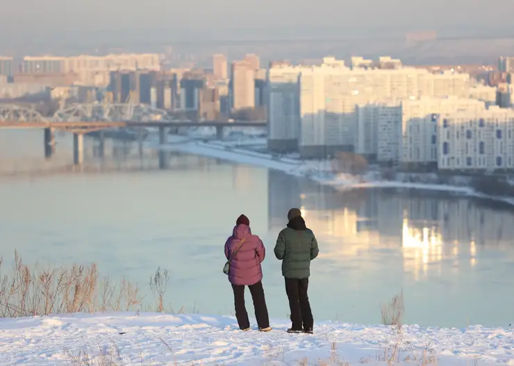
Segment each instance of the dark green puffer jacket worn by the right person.
[[317,257],[320,249],[313,231],[305,226],[304,218],[297,216],[279,233],[274,252],[282,261],[283,277],[304,279],[310,276],[310,261]]

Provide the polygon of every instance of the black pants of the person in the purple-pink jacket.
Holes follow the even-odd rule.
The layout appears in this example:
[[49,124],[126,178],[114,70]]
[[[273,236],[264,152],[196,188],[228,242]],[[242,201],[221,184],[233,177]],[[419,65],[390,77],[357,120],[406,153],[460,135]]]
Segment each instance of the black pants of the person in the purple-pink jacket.
[[[266,299],[264,297],[263,282],[258,281],[256,284],[248,286],[251,293],[251,299],[254,300],[255,317],[259,329],[265,329],[270,326],[270,317],[267,315]],[[234,291],[235,317],[238,319],[240,329],[250,327],[248,320],[247,308],[244,306],[244,285],[232,285]]]

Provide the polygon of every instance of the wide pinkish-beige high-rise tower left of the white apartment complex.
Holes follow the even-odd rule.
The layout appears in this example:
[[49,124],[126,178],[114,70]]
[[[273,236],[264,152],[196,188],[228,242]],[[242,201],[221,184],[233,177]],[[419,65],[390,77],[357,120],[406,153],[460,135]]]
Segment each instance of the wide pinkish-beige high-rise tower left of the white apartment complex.
[[232,62],[231,96],[235,111],[255,107],[255,72],[246,61]]

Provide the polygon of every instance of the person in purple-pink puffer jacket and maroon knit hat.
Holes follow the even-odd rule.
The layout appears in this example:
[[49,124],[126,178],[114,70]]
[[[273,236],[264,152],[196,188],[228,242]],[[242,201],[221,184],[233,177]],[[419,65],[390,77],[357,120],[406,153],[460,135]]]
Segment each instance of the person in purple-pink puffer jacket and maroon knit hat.
[[259,331],[271,331],[263,288],[263,268],[266,250],[263,241],[251,234],[250,220],[241,215],[235,222],[232,235],[226,239],[225,256],[230,261],[229,281],[234,293],[235,317],[242,331],[250,329],[244,306],[244,286],[248,286],[254,300],[255,317]]

